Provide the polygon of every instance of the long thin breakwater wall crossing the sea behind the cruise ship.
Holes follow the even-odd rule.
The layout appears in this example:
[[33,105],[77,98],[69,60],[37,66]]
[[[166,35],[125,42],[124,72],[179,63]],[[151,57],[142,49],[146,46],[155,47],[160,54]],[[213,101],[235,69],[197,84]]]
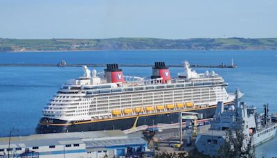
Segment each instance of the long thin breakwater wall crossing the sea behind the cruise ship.
[[[87,65],[87,67],[106,67],[106,64],[0,64],[0,67],[82,67]],[[119,67],[154,67],[152,64],[118,64]],[[168,64],[168,67],[184,67],[182,64]],[[237,68],[237,65],[231,64],[219,64],[219,65],[199,65],[199,64],[190,64],[190,67],[193,68]]]

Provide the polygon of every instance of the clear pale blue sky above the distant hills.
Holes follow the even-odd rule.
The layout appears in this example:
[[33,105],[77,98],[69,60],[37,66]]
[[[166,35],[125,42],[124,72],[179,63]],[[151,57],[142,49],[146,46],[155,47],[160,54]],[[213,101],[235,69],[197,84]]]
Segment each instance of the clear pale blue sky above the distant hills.
[[1,37],[277,37],[277,1],[0,0]]

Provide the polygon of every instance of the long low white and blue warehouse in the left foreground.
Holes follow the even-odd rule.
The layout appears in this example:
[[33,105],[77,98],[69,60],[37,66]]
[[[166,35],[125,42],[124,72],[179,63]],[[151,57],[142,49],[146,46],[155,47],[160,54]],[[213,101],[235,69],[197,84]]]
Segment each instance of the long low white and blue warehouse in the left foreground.
[[[10,140],[10,141],[9,141]],[[1,157],[130,157],[141,156],[147,142],[141,134],[120,130],[32,134],[0,138]]]

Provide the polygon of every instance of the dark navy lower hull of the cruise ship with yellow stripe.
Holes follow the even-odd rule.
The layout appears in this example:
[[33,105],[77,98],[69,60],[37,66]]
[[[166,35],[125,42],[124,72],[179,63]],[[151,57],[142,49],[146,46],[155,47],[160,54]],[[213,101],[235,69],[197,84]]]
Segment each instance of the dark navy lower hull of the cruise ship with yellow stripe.
[[[225,105],[230,104],[226,103]],[[186,109],[186,112],[197,112],[203,114],[203,119],[210,119],[215,114],[216,105],[202,109]],[[141,115],[136,126],[141,125],[157,125],[158,123],[178,123],[180,112],[168,112],[162,114]],[[39,120],[36,128],[37,134],[44,133],[60,133],[60,132],[82,132],[82,131],[98,131],[98,130],[127,130],[133,127],[136,116],[130,116],[119,119],[109,119],[101,121],[62,121],[58,119],[48,119],[43,117]],[[44,122],[51,122],[46,124]]]

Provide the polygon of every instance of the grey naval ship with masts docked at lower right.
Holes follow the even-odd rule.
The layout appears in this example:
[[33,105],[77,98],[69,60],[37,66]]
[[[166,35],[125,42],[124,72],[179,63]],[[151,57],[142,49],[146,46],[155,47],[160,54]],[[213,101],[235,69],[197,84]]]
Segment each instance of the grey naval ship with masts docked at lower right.
[[248,107],[246,103],[239,102],[238,97],[235,105],[224,106],[219,102],[211,120],[211,129],[198,134],[195,141],[197,150],[204,155],[218,155],[218,150],[229,139],[229,130],[234,138],[236,130],[244,135],[242,150],[249,143],[258,146],[273,139],[277,130],[277,123],[271,121],[268,104],[264,105],[264,113],[258,114],[256,107]]

